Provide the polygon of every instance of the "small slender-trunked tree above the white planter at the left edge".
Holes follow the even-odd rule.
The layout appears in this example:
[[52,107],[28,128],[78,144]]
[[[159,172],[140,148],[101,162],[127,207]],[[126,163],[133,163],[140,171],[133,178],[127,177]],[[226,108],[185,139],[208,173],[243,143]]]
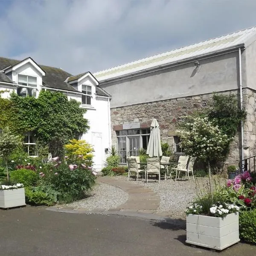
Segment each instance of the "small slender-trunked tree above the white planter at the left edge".
[[21,146],[20,137],[17,135],[13,135],[9,130],[9,127],[5,127],[3,131],[0,133],[0,155],[2,155],[5,163],[6,163],[6,172],[7,172],[7,180],[9,180],[8,173],[8,160],[10,154],[19,146]]

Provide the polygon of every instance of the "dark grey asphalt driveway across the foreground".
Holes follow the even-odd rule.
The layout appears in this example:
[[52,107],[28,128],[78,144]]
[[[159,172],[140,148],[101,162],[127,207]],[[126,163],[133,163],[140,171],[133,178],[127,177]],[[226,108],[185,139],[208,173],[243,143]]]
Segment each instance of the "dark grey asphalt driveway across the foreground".
[[185,244],[179,226],[119,215],[52,212],[44,207],[0,210],[0,256],[249,256],[256,246],[221,253]]

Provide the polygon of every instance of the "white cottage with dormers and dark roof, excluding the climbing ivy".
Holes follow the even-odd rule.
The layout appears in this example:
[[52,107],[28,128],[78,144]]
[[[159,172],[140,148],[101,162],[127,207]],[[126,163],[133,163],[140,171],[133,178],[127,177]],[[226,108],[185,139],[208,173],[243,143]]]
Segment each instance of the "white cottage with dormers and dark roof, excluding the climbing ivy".
[[[111,147],[111,95],[98,85],[90,72],[73,76],[60,68],[38,65],[30,57],[23,61],[0,58],[1,97],[8,98],[12,91],[20,96],[38,97],[41,90],[51,90],[81,102],[81,108],[87,109],[84,118],[88,119],[90,130],[79,134],[78,139],[93,145],[93,167],[101,170]],[[34,145],[35,138],[27,134],[26,146],[30,155],[36,154]]]

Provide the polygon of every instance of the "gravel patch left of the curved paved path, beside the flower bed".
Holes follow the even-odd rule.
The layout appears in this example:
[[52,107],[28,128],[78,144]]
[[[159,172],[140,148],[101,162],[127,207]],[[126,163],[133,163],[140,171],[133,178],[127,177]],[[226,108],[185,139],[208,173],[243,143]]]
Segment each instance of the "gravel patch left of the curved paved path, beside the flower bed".
[[99,182],[90,192],[90,197],[73,202],[72,204],[65,204],[62,207],[84,208],[88,211],[110,209],[124,204],[127,199],[128,193],[122,189]]

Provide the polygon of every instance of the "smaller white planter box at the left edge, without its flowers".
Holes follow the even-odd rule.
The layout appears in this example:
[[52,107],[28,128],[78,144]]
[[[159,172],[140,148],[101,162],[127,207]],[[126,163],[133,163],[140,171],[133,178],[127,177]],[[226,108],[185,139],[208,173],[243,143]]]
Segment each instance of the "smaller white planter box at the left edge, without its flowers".
[[26,205],[25,189],[0,190],[0,208],[11,208]]

